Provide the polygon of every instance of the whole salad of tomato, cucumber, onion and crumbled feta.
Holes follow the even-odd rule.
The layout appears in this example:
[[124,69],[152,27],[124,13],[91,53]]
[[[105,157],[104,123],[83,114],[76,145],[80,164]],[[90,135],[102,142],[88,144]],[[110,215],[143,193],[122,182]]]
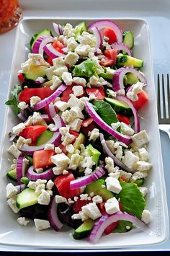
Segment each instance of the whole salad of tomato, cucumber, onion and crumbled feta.
[[91,243],[148,231],[152,164],[140,129],[147,80],[133,56],[133,32],[111,20],[53,28],[30,39],[6,102],[18,122],[9,133],[7,204],[22,226],[69,226],[73,239]]

